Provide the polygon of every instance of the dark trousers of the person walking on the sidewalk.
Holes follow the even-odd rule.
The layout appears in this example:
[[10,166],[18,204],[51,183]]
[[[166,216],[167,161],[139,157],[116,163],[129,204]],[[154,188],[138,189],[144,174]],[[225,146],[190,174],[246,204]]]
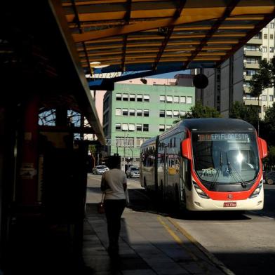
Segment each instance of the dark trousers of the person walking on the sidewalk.
[[126,207],[125,199],[107,199],[104,202],[107,218],[109,249],[119,249],[119,232],[121,229],[121,215]]

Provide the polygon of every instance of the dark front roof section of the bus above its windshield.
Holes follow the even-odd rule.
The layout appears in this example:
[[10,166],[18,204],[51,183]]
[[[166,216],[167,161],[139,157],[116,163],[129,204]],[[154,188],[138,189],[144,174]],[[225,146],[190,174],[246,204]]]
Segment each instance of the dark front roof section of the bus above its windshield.
[[255,128],[248,122],[241,119],[185,119],[177,123],[176,128],[185,126],[189,130],[202,130],[206,132],[215,132],[220,130],[230,131],[255,131]]

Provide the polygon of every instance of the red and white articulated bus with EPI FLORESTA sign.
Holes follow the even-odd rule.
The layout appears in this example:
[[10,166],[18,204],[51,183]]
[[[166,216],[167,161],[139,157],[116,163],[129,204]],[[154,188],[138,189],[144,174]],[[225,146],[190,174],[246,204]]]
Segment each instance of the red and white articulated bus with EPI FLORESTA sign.
[[267,143],[239,119],[185,119],[140,147],[140,182],[188,210],[260,210]]

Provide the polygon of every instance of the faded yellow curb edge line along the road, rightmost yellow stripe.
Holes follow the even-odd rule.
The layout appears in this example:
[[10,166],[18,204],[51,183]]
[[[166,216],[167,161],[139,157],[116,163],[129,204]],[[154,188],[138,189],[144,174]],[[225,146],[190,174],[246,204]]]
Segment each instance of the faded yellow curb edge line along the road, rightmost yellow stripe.
[[177,230],[180,231],[182,235],[186,236],[187,239],[189,239],[189,241],[191,241],[194,244],[194,246],[199,248],[199,250],[201,250],[201,252],[203,252],[208,257],[208,259],[211,262],[213,262],[213,264],[215,264],[216,267],[222,270],[224,274],[234,275],[234,272],[232,272],[222,262],[220,262],[220,260],[218,260],[217,257],[215,257],[204,246],[202,246],[201,243],[199,243],[199,241],[196,241],[196,239],[193,236],[191,236],[185,229],[183,229],[175,220],[173,220],[171,217],[168,217],[167,219],[171,224],[174,225],[175,228],[177,228]]

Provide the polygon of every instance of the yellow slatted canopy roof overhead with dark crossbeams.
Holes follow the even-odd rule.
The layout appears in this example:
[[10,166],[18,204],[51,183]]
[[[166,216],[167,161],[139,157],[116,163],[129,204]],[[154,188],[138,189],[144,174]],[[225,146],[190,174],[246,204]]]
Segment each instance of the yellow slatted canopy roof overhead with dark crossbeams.
[[64,0],[62,8],[87,73],[91,62],[98,72],[168,72],[220,65],[274,18],[275,2]]

